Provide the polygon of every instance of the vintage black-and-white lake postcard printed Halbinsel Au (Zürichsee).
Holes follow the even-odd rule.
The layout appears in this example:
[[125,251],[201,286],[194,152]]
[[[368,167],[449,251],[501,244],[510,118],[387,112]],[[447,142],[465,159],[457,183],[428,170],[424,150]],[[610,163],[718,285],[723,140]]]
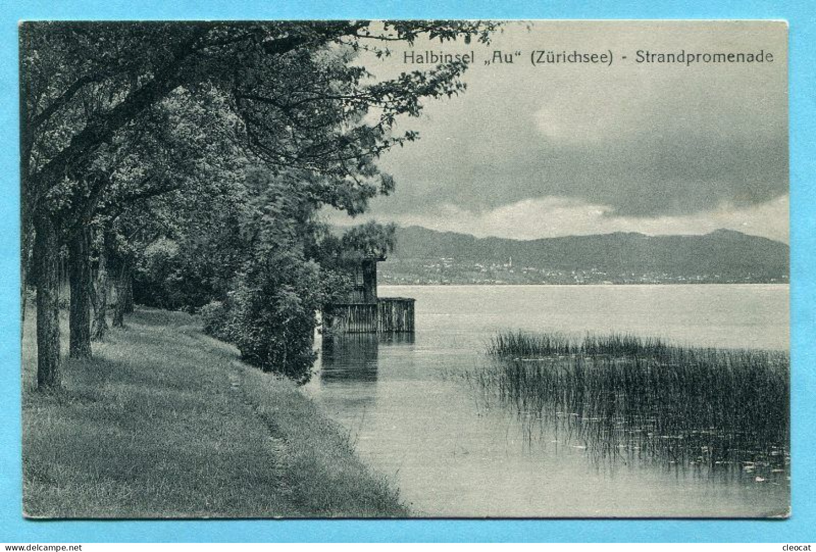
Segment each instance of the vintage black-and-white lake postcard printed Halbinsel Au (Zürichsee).
[[24,515],[790,514],[787,24],[20,24]]

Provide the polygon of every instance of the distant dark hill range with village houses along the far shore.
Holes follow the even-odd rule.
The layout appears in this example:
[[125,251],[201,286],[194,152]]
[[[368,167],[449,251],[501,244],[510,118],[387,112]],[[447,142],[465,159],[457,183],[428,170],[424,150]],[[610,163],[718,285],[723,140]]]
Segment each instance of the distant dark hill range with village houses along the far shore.
[[410,226],[379,271],[380,283],[772,283],[788,281],[789,257],[785,243],[725,229],[515,240]]

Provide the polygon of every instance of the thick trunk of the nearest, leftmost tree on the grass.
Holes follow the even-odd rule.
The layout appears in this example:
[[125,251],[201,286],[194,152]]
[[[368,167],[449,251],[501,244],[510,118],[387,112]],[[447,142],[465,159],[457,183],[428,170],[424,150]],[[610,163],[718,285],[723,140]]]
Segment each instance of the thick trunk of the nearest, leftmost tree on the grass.
[[60,245],[55,221],[37,217],[34,236],[34,278],[37,283],[37,386],[61,385],[60,374]]

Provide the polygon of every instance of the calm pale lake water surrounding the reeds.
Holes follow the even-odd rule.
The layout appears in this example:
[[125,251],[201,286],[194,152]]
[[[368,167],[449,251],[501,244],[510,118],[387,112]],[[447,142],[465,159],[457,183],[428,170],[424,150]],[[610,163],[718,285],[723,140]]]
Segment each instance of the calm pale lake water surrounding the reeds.
[[787,510],[787,472],[709,474],[630,451],[599,460],[579,441],[503,407],[457,374],[505,329],[632,332],[677,344],[787,349],[787,285],[399,286],[414,336],[323,344],[304,387],[364,461],[419,515],[758,516]]

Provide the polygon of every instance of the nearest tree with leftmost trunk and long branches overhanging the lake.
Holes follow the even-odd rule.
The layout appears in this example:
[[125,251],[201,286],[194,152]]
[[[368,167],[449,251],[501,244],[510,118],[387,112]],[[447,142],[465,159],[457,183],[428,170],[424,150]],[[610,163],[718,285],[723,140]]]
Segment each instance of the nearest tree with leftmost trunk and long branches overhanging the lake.
[[[420,34],[486,41],[493,28],[427,21],[22,25],[22,249],[25,281],[37,287],[39,385],[60,381],[57,252],[86,240],[82,229],[127,164],[135,136],[175,91],[223,100],[246,151],[273,170],[319,175],[308,180],[314,201],[358,213],[392,187],[375,159],[416,138],[391,136],[393,122],[419,114],[423,97],[461,91],[465,67],[366,82],[366,70],[349,63],[354,52],[385,55],[378,44]],[[73,247],[72,265],[87,249]],[[84,279],[84,269],[75,269]],[[72,312],[82,318],[84,311]]]

